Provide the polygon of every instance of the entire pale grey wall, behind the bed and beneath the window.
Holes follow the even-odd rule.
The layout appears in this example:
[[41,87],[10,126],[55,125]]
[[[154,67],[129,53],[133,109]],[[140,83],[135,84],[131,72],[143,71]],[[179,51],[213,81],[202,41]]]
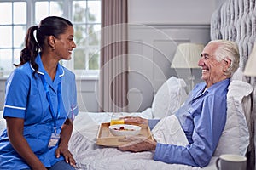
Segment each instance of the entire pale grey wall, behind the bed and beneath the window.
[[[188,78],[189,72],[170,68],[180,42],[209,40],[209,23],[214,8],[223,0],[129,0],[129,111],[150,107],[160,85],[172,75]],[[139,58],[137,56],[140,56]],[[200,81],[200,71],[195,72]],[[0,79],[0,108],[4,82]],[[188,82],[188,81],[187,81]],[[80,111],[98,111],[97,80],[78,77]],[[1,110],[0,109],[0,110]]]

